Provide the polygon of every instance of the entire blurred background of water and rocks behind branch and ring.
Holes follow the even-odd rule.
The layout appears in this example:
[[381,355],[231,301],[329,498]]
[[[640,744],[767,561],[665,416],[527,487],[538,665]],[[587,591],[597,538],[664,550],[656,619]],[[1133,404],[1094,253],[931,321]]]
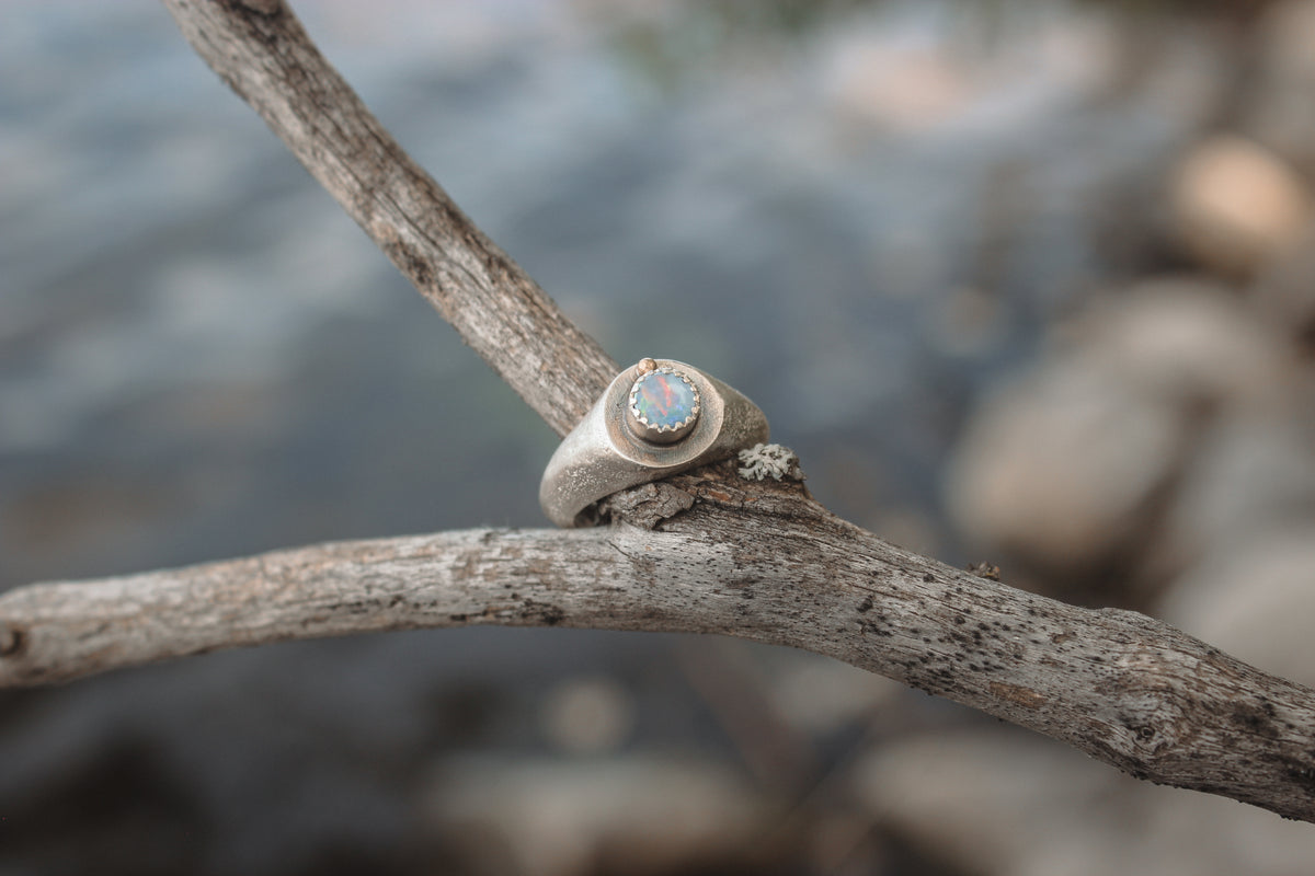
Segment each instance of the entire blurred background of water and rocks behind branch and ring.
[[[838,514],[1315,683],[1315,1],[295,5],[572,318],[746,391]],[[0,588],[544,525],[554,436],[162,8],[3,14]],[[4,876],[1312,862],[1308,825],[730,640],[0,692]]]

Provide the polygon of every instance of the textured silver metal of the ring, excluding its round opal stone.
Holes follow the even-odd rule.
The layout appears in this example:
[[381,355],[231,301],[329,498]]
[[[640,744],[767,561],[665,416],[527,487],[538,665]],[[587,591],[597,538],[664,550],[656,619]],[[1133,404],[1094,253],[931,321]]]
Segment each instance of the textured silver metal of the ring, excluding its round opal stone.
[[[669,359],[654,360],[685,376],[698,390],[700,414],[689,433],[672,444],[638,436],[626,424],[630,390],[647,370],[631,365],[611,381],[584,419],[563,439],[539,483],[539,504],[559,527],[590,523],[585,514],[618,490],[660,481],[725,460],[768,440],[767,416],[735,389]],[[643,361],[642,365],[647,365]]]

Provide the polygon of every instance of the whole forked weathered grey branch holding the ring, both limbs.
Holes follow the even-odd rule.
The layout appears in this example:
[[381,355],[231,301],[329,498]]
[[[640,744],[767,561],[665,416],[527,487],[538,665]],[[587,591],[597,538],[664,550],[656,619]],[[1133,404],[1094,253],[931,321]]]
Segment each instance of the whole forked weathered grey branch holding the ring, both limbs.
[[[564,432],[613,364],[419,171],[277,0],[164,0],[197,51]],[[919,557],[794,483],[719,464],[615,496],[608,528],[468,531],[0,595],[0,687],[263,642],[464,624],[685,630],[802,647],[1153,781],[1315,821],[1315,691],[1141,615]]]

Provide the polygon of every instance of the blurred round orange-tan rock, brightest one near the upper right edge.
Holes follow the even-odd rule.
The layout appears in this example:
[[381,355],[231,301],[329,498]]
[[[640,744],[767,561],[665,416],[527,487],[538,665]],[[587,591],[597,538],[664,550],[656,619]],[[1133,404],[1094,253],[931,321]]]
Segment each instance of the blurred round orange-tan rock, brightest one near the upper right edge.
[[1222,134],[1194,146],[1172,181],[1174,230],[1207,268],[1248,274],[1297,244],[1311,222],[1310,192],[1283,159]]

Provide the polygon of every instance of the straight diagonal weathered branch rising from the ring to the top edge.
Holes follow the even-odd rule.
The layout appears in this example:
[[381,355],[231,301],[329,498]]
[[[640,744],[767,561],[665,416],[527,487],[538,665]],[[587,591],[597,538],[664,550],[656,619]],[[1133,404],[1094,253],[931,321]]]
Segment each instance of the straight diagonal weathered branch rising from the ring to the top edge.
[[416,284],[462,339],[565,435],[617,365],[384,130],[277,0],[163,0],[205,63]]

